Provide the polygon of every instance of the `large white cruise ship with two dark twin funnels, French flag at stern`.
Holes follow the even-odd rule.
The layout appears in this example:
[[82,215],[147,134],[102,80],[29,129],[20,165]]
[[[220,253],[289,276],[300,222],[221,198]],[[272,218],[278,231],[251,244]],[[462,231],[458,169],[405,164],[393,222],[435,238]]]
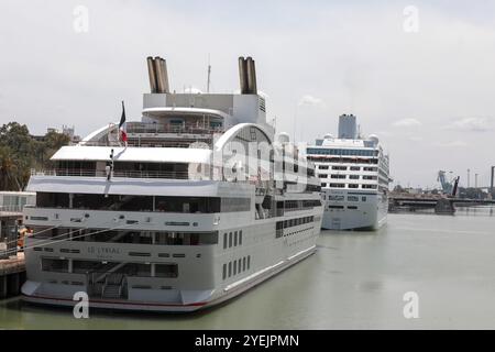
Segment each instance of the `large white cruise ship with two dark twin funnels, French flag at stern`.
[[[254,61],[241,94],[170,92],[148,58],[142,120],[109,124],[33,170],[24,209],[31,302],[193,311],[242,294],[316,251],[314,167],[274,141]],[[302,156],[301,156],[302,155]]]

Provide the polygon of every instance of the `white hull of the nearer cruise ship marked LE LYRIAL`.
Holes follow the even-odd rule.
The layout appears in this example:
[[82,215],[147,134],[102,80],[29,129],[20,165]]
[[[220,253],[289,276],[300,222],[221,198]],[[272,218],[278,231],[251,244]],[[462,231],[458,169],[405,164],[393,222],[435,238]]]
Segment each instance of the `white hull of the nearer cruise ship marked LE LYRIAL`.
[[[315,195],[317,197],[317,195]],[[51,217],[53,209],[25,209],[25,216],[33,219],[37,217]],[[59,219],[65,221],[75,217],[77,210],[56,210]],[[103,218],[113,218],[117,213],[108,211],[88,211],[91,215],[88,220],[95,223]],[[28,282],[22,287],[23,299],[35,304],[52,306],[74,306],[73,297],[76,293],[94,293],[89,295],[89,306],[92,308],[108,308],[119,310],[139,311],[169,311],[187,312],[204,309],[233,298],[253,286],[261,284],[273,275],[304,260],[316,251],[316,240],[321,228],[322,206],[308,210],[287,211],[283,217],[256,220],[254,223],[252,212],[239,212],[229,216],[221,215],[223,227],[219,230],[217,244],[186,246],[186,245],[156,245],[108,243],[90,241],[62,241],[43,246],[43,251],[35,251],[44,240],[28,239]],[[127,218],[140,219],[154,216],[155,223],[164,223],[169,219],[189,221],[208,221],[201,215],[157,215],[131,213]],[[194,218],[193,218],[194,217]],[[211,221],[217,216],[211,215]],[[275,223],[284,220],[312,217],[312,222],[300,223],[284,229],[283,235],[276,235]],[[101,218],[101,219],[100,219]],[[37,222],[35,220],[34,222]],[[213,222],[213,221],[212,221]],[[213,226],[213,223],[211,224]],[[213,228],[217,228],[213,226]],[[148,228],[151,230],[151,228]],[[211,230],[212,228],[210,228]],[[223,233],[231,233],[243,229],[242,245],[224,249]],[[208,230],[208,229],[204,229]],[[64,253],[76,251],[80,254],[65,254],[73,261],[101,261],[102,255],[108,262],[132,263],[136,258],[130,256],[131,252],[150,253],[146,261],[157,263],[177,263],[178,277],[128,277],[122,298],[95,295],[90,276],[80,272],[56,273],[43,272],[40,267],[41,257],[46,250],[48,253]],[[161,253],[170,253],[170,258],[161,260]],[[174,253],[182,253],[183,257]],[[48,254],[52,255],[52,254]],[[237,260],[251,258],[251,267],[232,277],[222,277],[222,268],[226,263]],[[240,265],[238,266],[241,267]],[[78,283],[78,285],[76,285]],[[142,286],[146,286],[145,289]],[[168,287],[164,289],[163,287]]]

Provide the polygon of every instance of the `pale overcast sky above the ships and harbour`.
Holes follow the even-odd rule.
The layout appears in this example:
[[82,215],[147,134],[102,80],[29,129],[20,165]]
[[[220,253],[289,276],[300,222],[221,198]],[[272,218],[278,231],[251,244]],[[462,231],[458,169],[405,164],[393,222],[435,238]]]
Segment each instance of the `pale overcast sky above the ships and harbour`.
[[[495,1],[1,0],[0,124],[85,136],[140,120],[145,58],[167,59],[177,92],[239,89],[256,61],[268,119],[297,141],[358,117],[391,155],[394,184],[471,186],[495,165]],[[296,129],[294,128],[296,127]],[[452,172],[452,173],[449,173]]]

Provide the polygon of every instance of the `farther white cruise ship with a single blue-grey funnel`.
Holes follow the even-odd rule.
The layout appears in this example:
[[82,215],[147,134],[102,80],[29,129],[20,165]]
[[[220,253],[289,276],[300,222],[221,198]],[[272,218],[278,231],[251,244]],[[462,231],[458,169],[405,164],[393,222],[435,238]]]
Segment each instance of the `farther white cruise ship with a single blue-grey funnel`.
[[388,155],[376,135],[358,133],[356,118],[339,118],[339,135],[324,135],[308,145],[307,157],[316,164],[324,202],[322,228],[375,230],[388,211]]

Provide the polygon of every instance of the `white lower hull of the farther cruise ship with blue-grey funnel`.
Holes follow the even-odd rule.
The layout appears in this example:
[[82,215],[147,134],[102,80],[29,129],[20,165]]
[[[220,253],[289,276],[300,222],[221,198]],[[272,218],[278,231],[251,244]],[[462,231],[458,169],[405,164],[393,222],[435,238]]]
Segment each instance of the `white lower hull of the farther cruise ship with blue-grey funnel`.
[[[334,189],[322,189],[322,194],[327,199],[321,223],[324,230],[377,230],[386,223],[388,212],[386,196]],[[342,200],[328,200],[331,196],[341,196]],[[358,197],[359,201],[349,201],[349,196]]]

